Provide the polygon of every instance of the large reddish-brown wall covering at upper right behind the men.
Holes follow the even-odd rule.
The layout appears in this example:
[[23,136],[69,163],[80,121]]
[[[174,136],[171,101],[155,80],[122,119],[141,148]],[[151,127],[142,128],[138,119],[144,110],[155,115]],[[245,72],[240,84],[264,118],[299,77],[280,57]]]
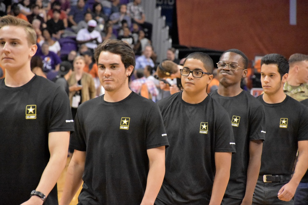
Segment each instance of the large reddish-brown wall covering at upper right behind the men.
[[290,0],[177,0],[180,45],[256,55],[308,54],[308,1],[297,0],[297,25],[290,25]]

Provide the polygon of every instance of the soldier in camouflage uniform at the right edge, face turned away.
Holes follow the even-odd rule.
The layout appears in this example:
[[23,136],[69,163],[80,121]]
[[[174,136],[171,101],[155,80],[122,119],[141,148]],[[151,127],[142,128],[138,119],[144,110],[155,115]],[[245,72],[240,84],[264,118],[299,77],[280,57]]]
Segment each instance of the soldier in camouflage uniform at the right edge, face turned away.
[[289,76],[283,91],[297,101],[305,100],[308,98],[308,55],[291,55],[289,65]]

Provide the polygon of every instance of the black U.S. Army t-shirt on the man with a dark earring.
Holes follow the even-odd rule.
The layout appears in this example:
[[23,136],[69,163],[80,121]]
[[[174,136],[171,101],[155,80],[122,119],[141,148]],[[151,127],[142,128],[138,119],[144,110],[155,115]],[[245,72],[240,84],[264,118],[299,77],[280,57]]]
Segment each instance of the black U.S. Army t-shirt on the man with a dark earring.
[[79,105],[70,146],[86,152],[80,204],[140,204],[147,149],[168,146],[158,106],[132,92],[119,102],[104,95]]

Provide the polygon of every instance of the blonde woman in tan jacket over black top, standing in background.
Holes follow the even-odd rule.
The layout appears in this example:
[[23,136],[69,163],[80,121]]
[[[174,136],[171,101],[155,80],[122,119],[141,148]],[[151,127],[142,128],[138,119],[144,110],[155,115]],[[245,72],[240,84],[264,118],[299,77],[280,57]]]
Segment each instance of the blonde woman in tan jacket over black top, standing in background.
[[74,72],[68,79],[70,103],[73,119],[75,119],[79,104],[95,98],[95,84],[92,76],[83,72],[85,66],[83,56],[75,57],[73,61]]

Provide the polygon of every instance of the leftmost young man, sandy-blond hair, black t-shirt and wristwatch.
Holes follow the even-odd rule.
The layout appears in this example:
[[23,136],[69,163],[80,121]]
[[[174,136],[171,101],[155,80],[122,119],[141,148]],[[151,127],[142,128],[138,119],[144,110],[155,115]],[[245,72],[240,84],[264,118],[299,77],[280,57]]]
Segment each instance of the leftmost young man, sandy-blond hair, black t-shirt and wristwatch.
[[31,72],[36,50],[29,22],[0,18],[1,204],[58,204],[73,119],[62,88]]

